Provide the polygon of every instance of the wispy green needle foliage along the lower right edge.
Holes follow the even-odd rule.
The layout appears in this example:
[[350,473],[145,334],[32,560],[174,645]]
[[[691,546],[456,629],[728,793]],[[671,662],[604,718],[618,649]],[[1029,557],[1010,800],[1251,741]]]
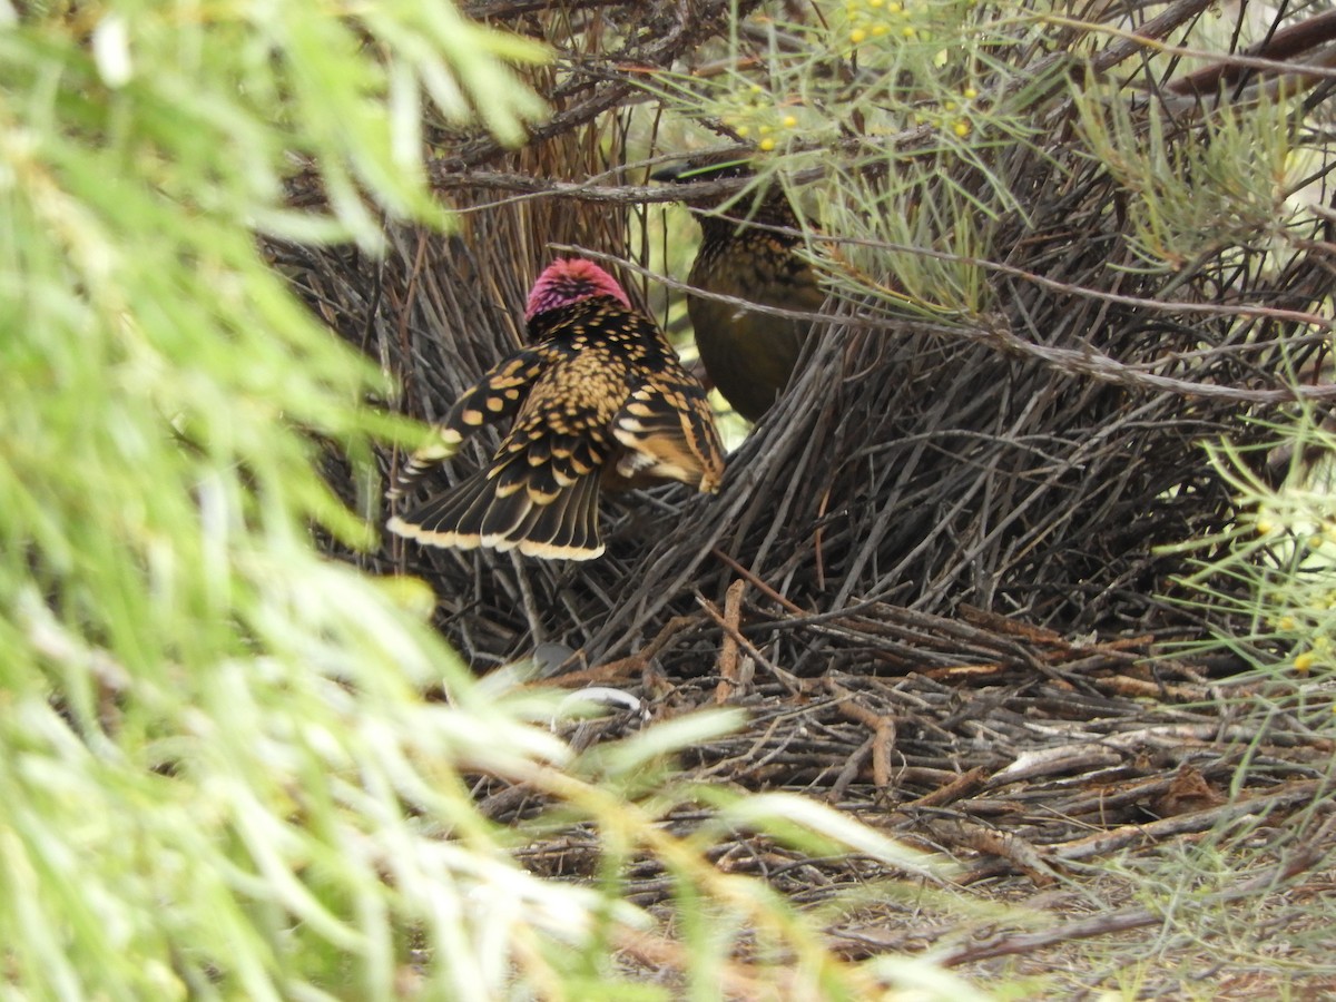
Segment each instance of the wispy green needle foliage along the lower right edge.
[[[1172,645],[1173,656],[1226,651],[1246,665],[1213,691],[1233,707],[1238,731],[1245,732],[1221,737],[1238,755],[1236,796],[1255,768],[1271,763],[1264,745],[1275,740],[1275,731],[1303,735],[1315,749],[1336,737],[1336,494],[1331,484],[1336,433],[1321,411],[1308,406],[1295,407],[1265,430],[1264,445],[1208,445],[1218,476],[1237,493],[1240,517],[1216,536],[1181,544],[1180,549],[1197,554],[1198,570],[1178,581],[1174,596],[1214,625],[1209,636]],[[1325,783],[1283,823],[1261,812],[1222,820],[1168,859],[1122,860],[1140,896],[1165,915],[1152,954],[1157,971],[1185,946],[1192,965],[1208,951],[1220,954],[1224,945],[1234,963],[1283,983],[1329,974],[1328,951],[1315,939],[1329,919],[1320,895],[1311,894],[1311,883],[1295,892],[1212,900],[1241,886],[1246,875],[1272,872],[1277,859],[1316,848],[1329,860],[1324,823],[1336,760],[1317,751],[1311,762],[1308,775],[1324,776]],[[1190,978],[1186,971],[1184,977]]]

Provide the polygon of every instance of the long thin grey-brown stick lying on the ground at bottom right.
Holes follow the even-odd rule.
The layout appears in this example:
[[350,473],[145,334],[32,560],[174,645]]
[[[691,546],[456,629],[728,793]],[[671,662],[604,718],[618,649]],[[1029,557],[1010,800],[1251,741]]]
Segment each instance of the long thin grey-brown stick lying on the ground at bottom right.
[[[1291,856],[1277,863],[1257,876],[1240,882],[1225,891],[1209,894],[1197,904],[1198,910],[1210,908],[1216,904],[1228,904],[1240,898],[1250,898],[1256,894],[1271,891],[1285,880],[1291,880],[1299,874],[1317,866],[1327,858],[1327,846],[1323,843],[1336,826],[1336,816],[1329,818],[1304,844],[1295,850]],[[1013,957],[1041,950],[1046,946],[1071,942],[1073,939],[1090,939],[1093,937],[1124,933],[1129,929],[1142,929],[1165,921],[1162,914],[1149,908],[1133,907],[1112,911],[1106,915],[1067,922],[1055,929],[1042,933],[1014,933],[997,937],[985,943],[965,943],[945,953],[931,954],[934,962],[945,967],[958,967],[962,963],[985,961],[991,957]]]

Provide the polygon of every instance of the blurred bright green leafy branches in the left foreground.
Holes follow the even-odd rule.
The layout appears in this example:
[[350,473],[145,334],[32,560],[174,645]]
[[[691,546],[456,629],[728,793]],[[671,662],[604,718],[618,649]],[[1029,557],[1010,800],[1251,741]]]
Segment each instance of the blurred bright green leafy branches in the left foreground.
[[[514,71],[534,44],[449,4],[350,11],[127,0],[0,27],[0,991],[629,998],[615,954],[649,921],[613,864],[649,852],[684,927],[731,916],[684,965],[697,985],[759,930],[776,978],[796,957],[798,983],[868,997],[875,974],[717,874],[708,839],[660,828],[675,798],[644,776],[719,720],[573,763],[552,701],[480,688],[414,582],[311,545],[313,525],[373,542],[318,476],[325,444],[370,485],[370,441],[410,432],[363,405],[382,374],[257,231],[374,248],[381,215],[445,224],[424,98],[504,140],[542,108]],[[286,204],[294,175],[327,207]],[[608,879],[520,868],[477,775],[597,827]],[[791,807],[745,820],[908,862]]]

